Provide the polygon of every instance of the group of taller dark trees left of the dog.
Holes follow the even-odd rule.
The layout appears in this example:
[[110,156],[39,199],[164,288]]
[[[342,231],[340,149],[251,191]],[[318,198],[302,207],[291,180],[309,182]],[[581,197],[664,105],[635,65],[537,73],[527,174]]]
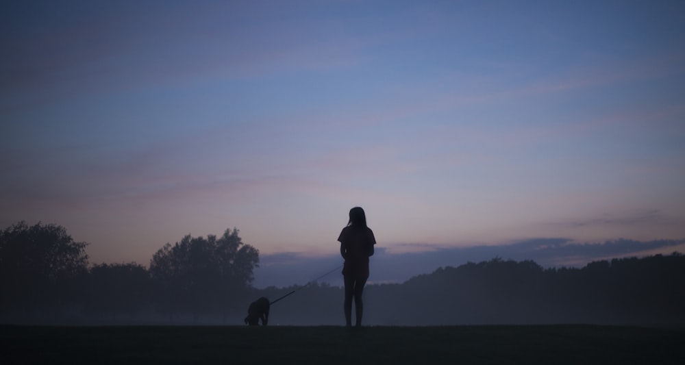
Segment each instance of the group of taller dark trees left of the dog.
[[258,250],[238,229],[167,243],[149,268],[88,264],[86,242],[58,225],[16,223],[0,231],[4,323],[197,323],[244,312]]

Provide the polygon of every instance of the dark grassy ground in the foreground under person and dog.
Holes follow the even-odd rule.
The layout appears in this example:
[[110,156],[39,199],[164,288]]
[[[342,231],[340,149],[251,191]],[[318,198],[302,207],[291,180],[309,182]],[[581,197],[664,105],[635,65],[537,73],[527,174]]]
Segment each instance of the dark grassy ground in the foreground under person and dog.
[[685,364],[684,328],[0,327],[3,363]]

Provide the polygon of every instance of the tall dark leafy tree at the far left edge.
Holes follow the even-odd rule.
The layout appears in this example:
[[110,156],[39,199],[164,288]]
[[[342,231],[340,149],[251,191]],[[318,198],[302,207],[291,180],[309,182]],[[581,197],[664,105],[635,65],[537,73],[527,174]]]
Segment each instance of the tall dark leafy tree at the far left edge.
[[0,307],[5,311],[64,306],[74,279],[88,266],[86,242],[76,242],[60,225],[18,222],[0,231]]

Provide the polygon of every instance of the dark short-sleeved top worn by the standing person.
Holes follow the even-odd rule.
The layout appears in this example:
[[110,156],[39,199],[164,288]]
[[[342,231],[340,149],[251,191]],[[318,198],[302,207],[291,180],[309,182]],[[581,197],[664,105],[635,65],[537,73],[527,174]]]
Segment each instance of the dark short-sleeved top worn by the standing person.
[[369,256],[373,255],[376,239],[369,227],[343,228],[338,236],[340,253],[345,257],[343,275],[356,278],[369,277]]

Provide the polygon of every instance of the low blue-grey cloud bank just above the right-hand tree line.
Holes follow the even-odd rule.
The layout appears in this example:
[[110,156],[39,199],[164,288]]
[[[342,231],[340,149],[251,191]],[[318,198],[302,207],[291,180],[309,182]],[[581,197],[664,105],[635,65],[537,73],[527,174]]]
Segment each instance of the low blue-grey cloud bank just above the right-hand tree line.
[[[386,247],[377,247],[375,255],[370,259],[369,283],[401,284],[410,277],[432,273],[440,267],[459,266],[495,257],[503,260],[533,260],[544,268],[582,267],[599,260],[685,252],[685,239],[649,242],[619,239],[578,243],[568,238],[536,238],[510,244],[426,248],[419,245],[416,247],[418,251],[388,253]],[[268,286],[304,285],[342,263],[338,253],[318,257],[303,253],[260,255],[260,267],[254,270],[253,286],[263,289]],[[334,286],[343,285],[340,273],[336,272],[318,281]]]

